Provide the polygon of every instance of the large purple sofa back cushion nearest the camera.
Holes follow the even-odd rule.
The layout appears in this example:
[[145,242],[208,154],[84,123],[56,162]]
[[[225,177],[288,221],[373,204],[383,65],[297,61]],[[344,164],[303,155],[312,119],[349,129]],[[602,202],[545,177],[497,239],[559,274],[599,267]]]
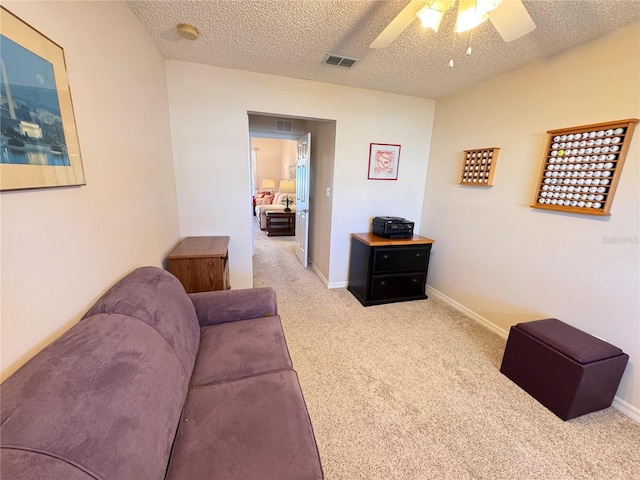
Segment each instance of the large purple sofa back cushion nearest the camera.
[[149,324],[77,323],[2,384],[2,478],[162,479],[188,381]]

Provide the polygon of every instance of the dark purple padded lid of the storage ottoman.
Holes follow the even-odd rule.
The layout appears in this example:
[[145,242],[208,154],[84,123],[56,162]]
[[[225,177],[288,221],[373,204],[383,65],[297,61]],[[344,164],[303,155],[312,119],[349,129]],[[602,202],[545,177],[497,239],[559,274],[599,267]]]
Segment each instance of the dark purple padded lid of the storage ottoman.
[[618,347],[556,318],[518,323],[516,327],[582,365],[623,353]]

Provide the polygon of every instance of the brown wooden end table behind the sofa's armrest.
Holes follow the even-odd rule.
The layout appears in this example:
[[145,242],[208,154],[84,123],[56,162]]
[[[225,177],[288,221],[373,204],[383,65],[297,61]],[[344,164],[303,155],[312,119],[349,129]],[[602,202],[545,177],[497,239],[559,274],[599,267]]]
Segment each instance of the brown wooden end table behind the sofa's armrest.
[[187,293],[228,290],[229,237],[187,237],[167,257]]

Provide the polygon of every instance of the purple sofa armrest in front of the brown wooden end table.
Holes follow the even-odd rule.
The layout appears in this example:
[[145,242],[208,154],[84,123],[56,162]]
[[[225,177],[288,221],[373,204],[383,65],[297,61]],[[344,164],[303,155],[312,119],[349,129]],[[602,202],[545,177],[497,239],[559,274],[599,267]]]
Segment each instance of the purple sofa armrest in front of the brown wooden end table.
[[278,314],[271,287],[190,293],[201,326]]

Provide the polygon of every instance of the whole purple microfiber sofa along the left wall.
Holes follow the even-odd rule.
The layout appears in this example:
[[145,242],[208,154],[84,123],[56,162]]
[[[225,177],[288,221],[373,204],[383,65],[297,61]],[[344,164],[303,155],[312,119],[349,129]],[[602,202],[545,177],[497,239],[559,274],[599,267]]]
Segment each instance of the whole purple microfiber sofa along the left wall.
[[0,393],[3,480],[323,478],[270,288],[139,268]]

